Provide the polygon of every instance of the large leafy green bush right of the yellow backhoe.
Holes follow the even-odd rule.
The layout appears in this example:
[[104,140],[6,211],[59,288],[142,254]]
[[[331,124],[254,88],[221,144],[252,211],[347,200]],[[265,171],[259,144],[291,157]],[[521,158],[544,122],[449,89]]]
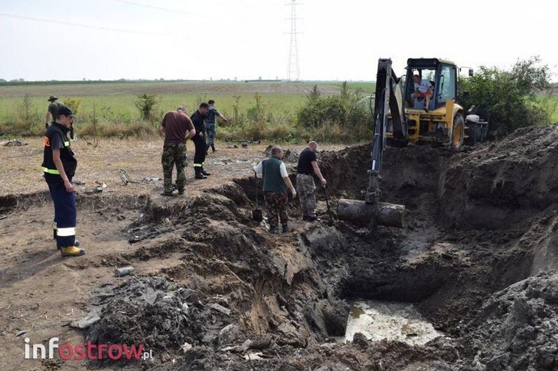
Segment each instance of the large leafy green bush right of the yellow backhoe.
[[470,92],[461,101],[465,107],[489,112],[490,134],[501,137],[517,128],[550,123],[555,107],[537,97],[550,87],[550,76],[549,66],[541,65],[539,57],[519,60],[511,71],[482,66],[461,81],[460,89]]

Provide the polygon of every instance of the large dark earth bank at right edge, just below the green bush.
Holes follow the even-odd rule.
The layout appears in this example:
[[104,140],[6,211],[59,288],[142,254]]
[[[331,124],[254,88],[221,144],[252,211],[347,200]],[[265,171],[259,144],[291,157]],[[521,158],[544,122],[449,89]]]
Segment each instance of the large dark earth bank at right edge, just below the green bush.
[[518,129],[452,163],[440,178],[446,224],[497,229],[558,201],[558,126]]

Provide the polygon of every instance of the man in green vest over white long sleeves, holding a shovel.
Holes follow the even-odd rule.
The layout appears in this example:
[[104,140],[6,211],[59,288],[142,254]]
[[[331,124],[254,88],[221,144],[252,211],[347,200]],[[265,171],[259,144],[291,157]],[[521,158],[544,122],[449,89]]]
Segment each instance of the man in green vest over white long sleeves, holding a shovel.
[[[266,200],[270,233],[277,233],[278,219],[281,219],[283,232],[288,231],[287,189],[291,191],[292,197],[296,197],[295,187],[288,179],[287,168],[281,158],[283,158],[283,150],[273,147],[271,157],[253,167],[257,174],[263,174],[263,198]],[[279,218],[277,218],[277,214]]]

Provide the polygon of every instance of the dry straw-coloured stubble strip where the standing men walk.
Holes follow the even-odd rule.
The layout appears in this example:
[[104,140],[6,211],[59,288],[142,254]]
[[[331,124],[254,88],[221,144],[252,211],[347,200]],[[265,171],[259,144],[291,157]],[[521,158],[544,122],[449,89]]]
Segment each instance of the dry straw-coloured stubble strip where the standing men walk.
[[[41,173],[42,139],[26,138],[29,143],[23,147],[0,146],[0,196],[9,194],[31,194],[47,190]],[[188,161],[186,166],[186,192],[193,195],[195,191],[222,185],[235,177],[251,175],[251,163],[261,161],[263,151],[268,143],[249,145],[248,148],[227,148],[227,144],[218,142],[218,151],[206,158],[206,169],[212,175],[206,180],[193,179],[194,146],[187,143]],[[132,181],[141,181],[146,177],[162,177],[161,138],[141,140],[100,139],[98,146],[89,146],[80,140],[72,143],[78,158],[78,171],[74,180],[84,181],[85,185],[76,185],[77,192],[92,189],[95,182],[105,182],[106,191],[117,195],[157,195],[161,189],[150,185],[162,185],[162,180],[150,182],[148,186],[128,184],[124,186],[118,176],[119,168],[124,168]],[[291,150],[300,151],[304,146],[288,146]],[[338,150],[342,145],[321,146],[320,150]],[[296,163],[294,164],[296,165]],[[176,174],[174,174],[176,175]]]

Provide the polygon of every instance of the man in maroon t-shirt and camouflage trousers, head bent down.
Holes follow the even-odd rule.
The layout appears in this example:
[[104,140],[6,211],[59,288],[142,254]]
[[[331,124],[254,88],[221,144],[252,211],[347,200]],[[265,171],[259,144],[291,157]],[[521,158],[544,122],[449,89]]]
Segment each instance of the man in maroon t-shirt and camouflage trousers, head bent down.
[[161,123],[161,130],[165,132],[165,144],[161,164],[163,166],[163,178],[165,179],[165,191],[162,196],[172,196],[172,168],[176,165],[176,189],[178,194],[184,194],[186,175],[186,139],[196,134],[194,124],[186,115],[186,108],[179,107],[176,112],[167,112]]

